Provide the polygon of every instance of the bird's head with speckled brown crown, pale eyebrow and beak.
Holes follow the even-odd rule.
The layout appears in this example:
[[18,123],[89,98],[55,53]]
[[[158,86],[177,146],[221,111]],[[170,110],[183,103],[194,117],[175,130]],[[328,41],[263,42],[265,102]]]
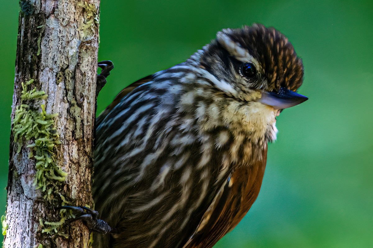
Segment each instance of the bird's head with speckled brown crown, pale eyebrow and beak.
[[223,29],[204,48],[201,65],[215,87],[243,101],[285,109],[307,100],[295,91],[303,82],[303,63],[288,39],[274,28],[254,24]]

